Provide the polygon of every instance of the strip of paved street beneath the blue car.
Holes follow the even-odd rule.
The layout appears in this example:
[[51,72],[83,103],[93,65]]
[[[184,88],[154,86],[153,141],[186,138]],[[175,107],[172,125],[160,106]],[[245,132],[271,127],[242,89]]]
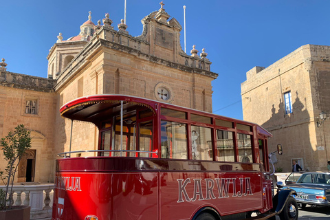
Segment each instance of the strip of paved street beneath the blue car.
[[329,207],[311,207],[307,206],[305,209],[299,208],[299,217],[300,220],[325,220],[330,219],[330,208]]

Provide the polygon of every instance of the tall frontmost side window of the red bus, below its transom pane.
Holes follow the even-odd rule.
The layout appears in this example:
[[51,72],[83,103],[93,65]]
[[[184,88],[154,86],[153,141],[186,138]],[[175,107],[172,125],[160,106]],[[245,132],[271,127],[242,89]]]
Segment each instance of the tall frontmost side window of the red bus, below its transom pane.
[[251,135],[237,133],[237,140],[239,142],[239,162],[252,163],[252,144]]

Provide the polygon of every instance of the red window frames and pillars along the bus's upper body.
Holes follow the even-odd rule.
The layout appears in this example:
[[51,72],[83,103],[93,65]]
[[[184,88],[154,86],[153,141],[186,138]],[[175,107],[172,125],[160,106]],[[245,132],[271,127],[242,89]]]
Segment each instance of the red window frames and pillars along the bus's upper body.
[[[162,108],[166,108],[166,109],[171,109],[171,110],[175,110],[175,111],[182,111],[186,114],[186,119],[182,119],[182,118],[175,118],[175,117],[171,117],[168,115],[162,115],[161,114],[161,109]],[[211,129],[211,141],[212,141],[212,161],[214,162],[221,162],[220,160],[217,160],[217,130],[221,130],[221,131],[228,131],[228,132],[232,132],[233,133],[233,142],[234,142],[234,162],[239,162],[239,147],[238,147],[238,138],[237,138],[237,134],[241,133],[241,134],[245,134],[245,135],[251,135],[251,144],[252,144],[252,163],[259,163],[258,159],[257,159],[257,155],[256,152],[259,153],[259,138],[261,135],[259,135],[259,133],[257,133],[257,129],[256,129],[256,124],[251,124],[251,123],[247,123],[247,122],[241,122],[241,121],[237,121],[237,120],[228,120],[228,118],[223,118],[222,116],[217,117],[217,115],[208,115],[207,113],[203,114],[195,109],[184,109],[181,107],[171,107],[168,106],[167,104],[163,104],[163,103],[159,103],[159,108],[156,110],[155,113],[153,113],[153,115],[148,116],[146,118],[140,118],[140,112],[141,111],[145,111],[148,108],[138,108],[136,109],[136,129],[135,129],[135,150],[136,151],[140,151],[140,124],[142,122],[146,122],[146,121],[152,121],[153,126],[152,126],[152,143],[153,143],[153,151],[158,151],[157,157],[161,158],[161,152],[159,150],[159,144],[160,144],[160,123],[162,120],[164,121],[168,121],[168,122],[178,122],[178,123],[182,123],[182,124],[186,124],[186,135],[187,135],[187,155],[188,155],[188,160],[192,160],[192,149],[191,149],[191,126],[201,126],[204,128],[208,128]],[[190,115],[191,114],[195,114],[195,115],[201,115],[203,117],[209,117],[210,118],[210,122],[211,124],[206,124],[203,122],[196,122],[196,121],[192,121]],[[111,115],[112,117],[118,117],[118,114],[115,115]],[[216,124],[216,120],[224,120],[226,122],[231,122],[233,124],[232,128],[228,128],[225,126],[219,126]],[[102,122],[100,122],[100,127],[102,125],[103,122],[109,121],[108,120],[104,120]],[[116,121],[116,120],[115,120]],[[111,127],[107,128],[107,129],[100,129],[99,132],[99,143],[98,143],[98,148],[101,148],[101,133],[104,131],[107,131],[109,129],[111,129],[113,132],[111,132],[111,149],[113,148],[113,137],[115,135],[115,127],[114,124],[116,122],[111,122]],[[245,131],[245,130],[239,130],[237,129],[237,124],[244,124],[246,126],[250,126],[251,127],[251,131]],[[157,138],[156,138],[157,137]],[[261,139],[264,141],[264,146],[265,144],[267,144],[267,142],[265,143],[265,137],[261,137]],[[256,143],[258,143],[256,146]],[[159,145],[159,146],[158,146]],[[127,143],[126,143],[126,147],[127,147]],[[265,150],[267,150],[267,148],[265,148]],[[111,153],[110,153],[111,155]],[[139,153],[135,154],[135,157],[138,157]],[[152,155],[151,155],[152,157]],[[267,164],[265,164],[265,168],[267,168]]]

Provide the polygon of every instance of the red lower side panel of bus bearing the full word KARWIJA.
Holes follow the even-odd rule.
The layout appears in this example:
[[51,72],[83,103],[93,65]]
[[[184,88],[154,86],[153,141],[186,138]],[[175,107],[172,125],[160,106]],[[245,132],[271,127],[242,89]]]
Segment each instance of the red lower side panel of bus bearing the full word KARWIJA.
[[162,219],[191,219],[210,206],[227,215],[263,209],[261,173],[161,173]]

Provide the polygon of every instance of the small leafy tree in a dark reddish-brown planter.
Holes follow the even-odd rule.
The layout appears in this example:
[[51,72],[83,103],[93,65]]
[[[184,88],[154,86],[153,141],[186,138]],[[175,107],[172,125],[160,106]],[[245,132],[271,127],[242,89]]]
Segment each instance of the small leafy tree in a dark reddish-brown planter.
[[0,146],[4,159],[7,162],[5,170],[0,171],[0,179],[5,184],[5,190],[0,190],[0,219],[30,219],[30,206],[13,206],[12,186],[17,167],[25,151],[31,147],[30,131],[19,124],[14,132],[10,131],[7,136],[1,138]]

